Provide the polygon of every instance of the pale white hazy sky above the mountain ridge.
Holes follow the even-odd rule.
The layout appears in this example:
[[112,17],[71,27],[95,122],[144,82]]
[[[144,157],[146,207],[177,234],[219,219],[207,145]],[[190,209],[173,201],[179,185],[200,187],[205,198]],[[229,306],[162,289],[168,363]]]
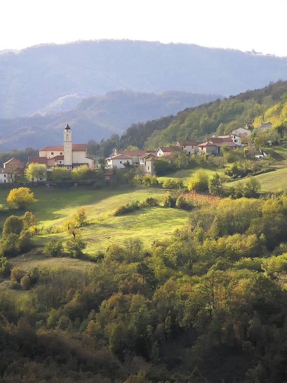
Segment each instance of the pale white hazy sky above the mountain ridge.
[[0,50],[114,38],[287,56],[287,0],[0,0]]

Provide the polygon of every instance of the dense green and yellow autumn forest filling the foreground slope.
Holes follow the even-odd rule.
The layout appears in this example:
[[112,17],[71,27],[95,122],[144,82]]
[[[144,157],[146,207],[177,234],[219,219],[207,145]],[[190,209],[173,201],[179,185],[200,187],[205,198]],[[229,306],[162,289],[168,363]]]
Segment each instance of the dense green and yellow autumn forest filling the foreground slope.
[[[6,221],[2,253],[33,220]],[[13,269],[1,381],[286,381],[286,232],[284,193],[223,198],[151,248],[133,238],[98,252],[88,271]]]

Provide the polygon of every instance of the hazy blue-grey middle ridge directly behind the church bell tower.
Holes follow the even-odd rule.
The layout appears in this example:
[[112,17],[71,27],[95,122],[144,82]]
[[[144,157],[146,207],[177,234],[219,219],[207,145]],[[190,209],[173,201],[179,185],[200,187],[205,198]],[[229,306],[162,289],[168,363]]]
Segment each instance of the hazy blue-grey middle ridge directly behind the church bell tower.
[[[160,94],[116,91],[86,98],[72,109],[56,114],[0,119],[0,151],[60,143],[61,131],[67,122],[73,129],[75,141],[100,140],[114,133],[121,134],[134,122],[175,114],[218,97],[175,91]],[[54,105],[53,111],[55,108]]]

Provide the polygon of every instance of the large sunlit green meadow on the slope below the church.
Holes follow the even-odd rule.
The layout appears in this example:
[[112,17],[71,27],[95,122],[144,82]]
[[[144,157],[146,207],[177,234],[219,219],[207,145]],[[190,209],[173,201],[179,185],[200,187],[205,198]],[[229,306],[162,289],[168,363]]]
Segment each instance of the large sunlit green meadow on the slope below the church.
[[[83,237],[88,246],[85,252],[95,254],[99,249],[106,249],[112,243],[123,243],[127,238],[138,237],[149,246],[155,239],[168,237],[172,232],[187,223],[189,212],[164,208],[162,206],[144,208],[130,214],[114,217],[113,210],[132,200],[143,201],[147,197],[161,199],[165,190],[135,187],[120,190],[91,190],[84,188],[33,189],[38,202],[28,210],[32,211],[44,228],[61,227],[72,218],[78,207],[87,209],[89,224],[83,228]],[[0,203],[5,201],[7,189],[0,190]],[[9,213],[0,213],[0,225]],[[19,214],[17,211],[13,213]],[[64,241],[68,239],[66,232],[58,234],[37,235],[35,244],[43,246],[51,237]],[[42,259],[43,260],[43,259]]]

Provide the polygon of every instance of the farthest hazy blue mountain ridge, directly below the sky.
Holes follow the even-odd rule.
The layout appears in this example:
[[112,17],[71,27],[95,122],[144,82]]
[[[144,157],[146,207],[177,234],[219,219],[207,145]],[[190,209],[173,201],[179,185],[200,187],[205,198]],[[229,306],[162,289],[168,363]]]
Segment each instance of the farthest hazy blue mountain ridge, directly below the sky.
[[115,90],[229,96],[280,78],[287,79],[287,58],[230,49],[128,40],[40,45],[0,52],[0,117]]

